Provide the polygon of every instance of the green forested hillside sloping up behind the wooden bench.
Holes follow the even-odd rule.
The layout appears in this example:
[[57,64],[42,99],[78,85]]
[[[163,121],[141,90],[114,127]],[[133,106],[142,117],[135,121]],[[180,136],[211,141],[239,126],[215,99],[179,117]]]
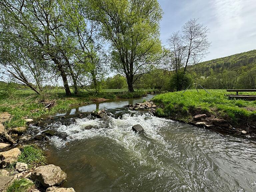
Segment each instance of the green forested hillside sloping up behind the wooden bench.
[[205,61],[191,67],[211,89],[256,89],[256,50]]

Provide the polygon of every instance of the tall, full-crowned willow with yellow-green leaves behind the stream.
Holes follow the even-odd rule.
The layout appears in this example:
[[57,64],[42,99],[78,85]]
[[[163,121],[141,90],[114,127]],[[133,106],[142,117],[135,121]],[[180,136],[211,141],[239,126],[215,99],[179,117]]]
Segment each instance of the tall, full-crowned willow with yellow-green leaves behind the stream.
[[161,51],[157,0],[91,0],[92,20],[101,24],[100,34],[110,44],[112,69],[126,77],[129,92]]

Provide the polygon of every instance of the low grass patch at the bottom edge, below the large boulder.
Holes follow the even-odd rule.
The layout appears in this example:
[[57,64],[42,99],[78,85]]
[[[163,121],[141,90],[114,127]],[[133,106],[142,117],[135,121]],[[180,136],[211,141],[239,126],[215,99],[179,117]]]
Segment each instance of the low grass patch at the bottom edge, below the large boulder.
[[6,189],[6,192],[27,192],[34,187],[34,183],[27,179],[15,179]]

